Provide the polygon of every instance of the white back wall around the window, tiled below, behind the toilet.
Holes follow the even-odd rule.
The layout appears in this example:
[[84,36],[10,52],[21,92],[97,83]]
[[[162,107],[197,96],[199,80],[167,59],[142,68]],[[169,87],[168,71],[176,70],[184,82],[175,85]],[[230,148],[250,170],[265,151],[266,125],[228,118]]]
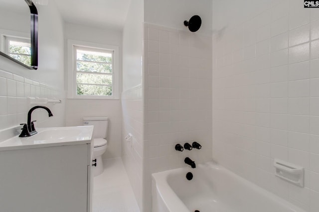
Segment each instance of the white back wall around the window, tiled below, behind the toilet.
[[[67,39],[119,46],[119,87],[122,87],[122,31],[65,23],[65,44]],[[65,55],[67,55],[66,52],[65,48]],[[67,72],[67,61],[65,64],[65,72]],[[109,117],[108,148],[102,158],[121,156],[122,111],[120,99],[66,99],[65,111],[66,126],[83,125],[83,117]]]

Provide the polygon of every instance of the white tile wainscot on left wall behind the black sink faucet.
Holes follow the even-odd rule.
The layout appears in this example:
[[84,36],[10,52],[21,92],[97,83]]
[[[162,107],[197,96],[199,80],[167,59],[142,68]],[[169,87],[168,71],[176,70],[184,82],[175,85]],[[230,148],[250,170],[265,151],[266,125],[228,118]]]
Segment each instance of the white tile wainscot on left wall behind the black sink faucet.
[[[36,91],[39,92],[36,92]],[[64,120],[64,94],[57,88],[0,70],[0,130],[26,123],[28,110],[35,106],[28,103],[27,97],[61,99],[62,104],[45,104],[53,117],[46,111],[38,109],[32,113],[37,120],[36,127],[61,127]],[[63,122],[63,121],[62,121]]]

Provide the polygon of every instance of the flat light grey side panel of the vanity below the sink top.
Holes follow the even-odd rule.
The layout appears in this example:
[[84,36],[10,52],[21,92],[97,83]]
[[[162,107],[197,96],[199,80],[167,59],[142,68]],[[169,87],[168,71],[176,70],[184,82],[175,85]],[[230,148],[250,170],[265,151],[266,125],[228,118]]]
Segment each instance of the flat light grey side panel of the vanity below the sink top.
[[0,151],[0,211],[87,212],[87,144]]

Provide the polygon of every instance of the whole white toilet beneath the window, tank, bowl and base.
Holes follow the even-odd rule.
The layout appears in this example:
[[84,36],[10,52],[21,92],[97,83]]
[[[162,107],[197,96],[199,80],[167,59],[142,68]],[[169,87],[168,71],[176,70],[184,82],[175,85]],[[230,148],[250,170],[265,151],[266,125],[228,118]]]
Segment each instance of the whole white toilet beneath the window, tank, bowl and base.
[[103,173],[102,154],[106,151],[108,141],[106,141],[108,133],[109,118],[108,117],[84,117],[84,126],[94,126],[93,130],[93,176],[98,176]]

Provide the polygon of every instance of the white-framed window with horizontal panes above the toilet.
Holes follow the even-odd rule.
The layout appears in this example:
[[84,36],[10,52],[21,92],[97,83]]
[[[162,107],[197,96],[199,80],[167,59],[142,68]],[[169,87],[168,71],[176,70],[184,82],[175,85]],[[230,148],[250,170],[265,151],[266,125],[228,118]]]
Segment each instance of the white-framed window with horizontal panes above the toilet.
[[118,99],[118,47],[68,40],[68,97]]

